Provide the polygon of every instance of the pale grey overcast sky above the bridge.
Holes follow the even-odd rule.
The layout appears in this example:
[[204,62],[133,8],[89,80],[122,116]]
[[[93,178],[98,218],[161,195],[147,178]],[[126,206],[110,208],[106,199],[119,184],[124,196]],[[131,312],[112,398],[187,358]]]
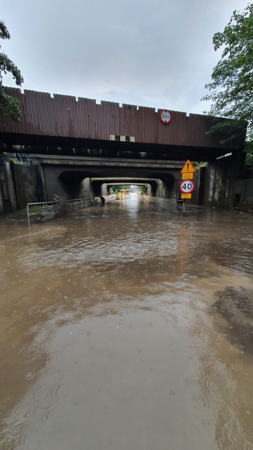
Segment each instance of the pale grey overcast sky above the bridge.
[[[212,36],[246,0],[7,0],[23,89],[202,113]],[[4,84],[14,86],[11,77]]]

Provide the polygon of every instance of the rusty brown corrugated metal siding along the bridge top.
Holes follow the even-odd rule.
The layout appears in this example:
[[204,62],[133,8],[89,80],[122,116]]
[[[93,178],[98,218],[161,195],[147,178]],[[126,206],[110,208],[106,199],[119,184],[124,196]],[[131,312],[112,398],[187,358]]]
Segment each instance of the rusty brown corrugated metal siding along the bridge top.
[[194,147],[238,149],[239,143],[220,144],[223,135],[207,135],[212,119],[198,114],[172,111],[172,121],[164,125],[154,108],[101,102],[68,95],[56,95],[5,88],[17,97],[23,117],[14,122],[0,114],[0,131],[31,135],[63,136],[110,140],[111,135],[133,136],[144,144],[186,145]]

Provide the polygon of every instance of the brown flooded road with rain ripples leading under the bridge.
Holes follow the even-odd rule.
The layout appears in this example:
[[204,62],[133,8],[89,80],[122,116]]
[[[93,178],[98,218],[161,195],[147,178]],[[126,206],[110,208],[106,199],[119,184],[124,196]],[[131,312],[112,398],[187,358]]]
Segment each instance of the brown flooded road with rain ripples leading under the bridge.
[[253,220],[0,222],[3,450],[253,448]]

